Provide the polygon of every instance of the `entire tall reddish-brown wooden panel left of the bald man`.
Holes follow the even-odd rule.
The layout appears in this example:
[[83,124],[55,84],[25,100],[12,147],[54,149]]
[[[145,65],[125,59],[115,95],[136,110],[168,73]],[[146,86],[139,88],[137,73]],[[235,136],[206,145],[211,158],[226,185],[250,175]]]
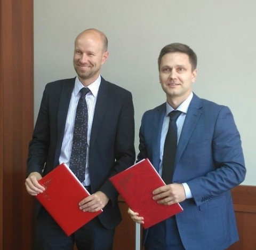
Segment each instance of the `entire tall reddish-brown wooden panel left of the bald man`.
[[34,126],[33,1],[1,1],[2,249],[31,249],[33,200],[25,190]]

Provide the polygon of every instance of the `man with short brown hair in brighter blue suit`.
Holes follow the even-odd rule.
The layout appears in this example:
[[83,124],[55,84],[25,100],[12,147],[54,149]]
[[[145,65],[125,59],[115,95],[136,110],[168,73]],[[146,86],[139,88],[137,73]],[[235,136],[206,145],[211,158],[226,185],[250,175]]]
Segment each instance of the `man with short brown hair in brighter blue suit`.
[[[180,203],[183,212],[146,230],[147,250],[221,250],[238,240],[230,189],[245,178],[241,139],[228,107],[192,92],[196,64],[187,45],[166,45],[158,69],[167,101],[142,117],[138,160],[149,158],[162,174],[169,114],[180,111],[174,164],[167,166],[173,175],[170,184],[153,191],[153,199],[166,206]],[[129,214],[143,223],[135,211]]]

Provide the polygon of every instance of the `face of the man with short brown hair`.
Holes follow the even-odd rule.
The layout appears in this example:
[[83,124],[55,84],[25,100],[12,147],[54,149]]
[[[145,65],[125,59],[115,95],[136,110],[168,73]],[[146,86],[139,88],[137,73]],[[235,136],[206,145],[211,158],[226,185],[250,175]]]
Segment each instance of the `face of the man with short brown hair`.
[[159,80],[166,93],[167,102],[176,109],[192,92],[192,83],[197,71],[192,70],[189,57],[185,53],[167,53],[159,65]]

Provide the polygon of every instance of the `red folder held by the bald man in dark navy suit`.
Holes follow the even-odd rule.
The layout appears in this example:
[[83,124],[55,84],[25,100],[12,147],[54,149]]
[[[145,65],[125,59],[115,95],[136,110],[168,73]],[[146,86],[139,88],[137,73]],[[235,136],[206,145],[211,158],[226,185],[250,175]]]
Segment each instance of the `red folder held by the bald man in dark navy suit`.
[[102,212],[83,212],[78,203],[90,195],[64,163],[38,181],[45,191],[35,196],[69,236]]

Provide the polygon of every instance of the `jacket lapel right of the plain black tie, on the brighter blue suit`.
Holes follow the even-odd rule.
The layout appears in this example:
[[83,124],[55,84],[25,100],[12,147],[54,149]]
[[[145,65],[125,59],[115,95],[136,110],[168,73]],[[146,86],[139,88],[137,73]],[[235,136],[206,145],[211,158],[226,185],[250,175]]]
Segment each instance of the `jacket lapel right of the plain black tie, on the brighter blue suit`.
[[175,160],[176,162],[179,162],[179,159],[188,144],[190,136],[194,131],[196,123],[201,115],[201,112],[202,112],[201,100],[198,98],[197,95],[194,94],[189,104],[185,122],[182,127],[180,140],[177,147],[176,160]]

